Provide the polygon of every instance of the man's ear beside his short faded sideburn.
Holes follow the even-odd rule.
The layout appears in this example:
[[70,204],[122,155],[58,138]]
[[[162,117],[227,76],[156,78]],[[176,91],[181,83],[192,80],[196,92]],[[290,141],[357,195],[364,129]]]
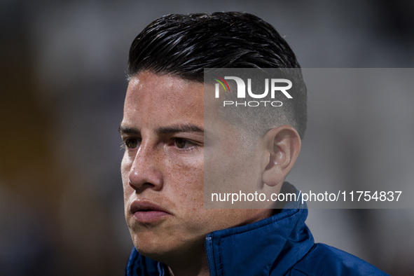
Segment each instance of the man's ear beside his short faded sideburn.
[[263,183],[282,186],[301,151],[301,137],[290,125],[281,125],[269,130],[263,137]]

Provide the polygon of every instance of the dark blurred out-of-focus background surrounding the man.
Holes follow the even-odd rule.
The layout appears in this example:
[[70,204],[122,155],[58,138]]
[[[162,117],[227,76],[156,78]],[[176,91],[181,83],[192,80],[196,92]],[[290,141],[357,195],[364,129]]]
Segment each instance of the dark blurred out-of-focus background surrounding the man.
[[[270,22],[302,67],[414,65],[408,0],[1,0],[0,275],[123,275],[132,242],[117,130],[130,43],[161,15],[213,11]],[[292,184],[413,184],[413,90],[340,107],[356,93],[310,92]],[[414,275],[413,209],[311,209],[308,224],[317,242]]]

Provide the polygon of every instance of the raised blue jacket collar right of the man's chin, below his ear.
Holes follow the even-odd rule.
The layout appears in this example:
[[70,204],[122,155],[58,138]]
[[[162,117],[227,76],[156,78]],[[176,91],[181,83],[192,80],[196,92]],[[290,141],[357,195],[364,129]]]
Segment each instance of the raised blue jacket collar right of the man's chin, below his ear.
[[[285,182],[283,193],[300,193]],[[279,214],[256,223],[214,231],[205,247],[210,275],[285,275],[311,249],[306,204],[287,202]]]

